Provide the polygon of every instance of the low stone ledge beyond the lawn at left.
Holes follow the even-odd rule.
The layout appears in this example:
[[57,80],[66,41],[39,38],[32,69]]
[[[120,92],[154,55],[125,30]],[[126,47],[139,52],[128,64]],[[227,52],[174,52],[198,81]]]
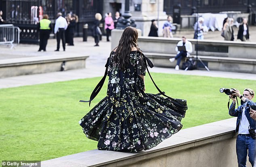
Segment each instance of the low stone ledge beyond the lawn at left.
[[37,73],[61,71],[65,61],[65,70],[85,68],[89,56],[38,56],[0,60],[0,78]]

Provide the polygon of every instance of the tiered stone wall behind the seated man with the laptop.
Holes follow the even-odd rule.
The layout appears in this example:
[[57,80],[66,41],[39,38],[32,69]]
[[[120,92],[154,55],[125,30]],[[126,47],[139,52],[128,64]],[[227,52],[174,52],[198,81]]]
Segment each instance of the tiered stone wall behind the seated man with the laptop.
[[[139,37],[138,45],[146,56],[157,67],[175,67],[175,63],[168,61],[176,56],[175,47],[181,39],[163,37]],[[188,39],[193,45],[191,57],[197,56],[204,61],[211,70],[243,73],[256,73],[256,43],[240,41],[213,41]],[[181,65],[181,64],[180,64]]]

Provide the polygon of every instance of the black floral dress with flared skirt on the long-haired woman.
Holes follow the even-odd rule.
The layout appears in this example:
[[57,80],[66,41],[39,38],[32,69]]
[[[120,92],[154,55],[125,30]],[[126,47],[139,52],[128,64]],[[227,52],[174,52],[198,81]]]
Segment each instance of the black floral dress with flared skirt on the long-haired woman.
[[99,141],[99,150],[137,152],[151,149],[182,128],[186,100],[164,98],[143,91],[145,61],[137,51],[130,52],[126,70],[108,61],[109,82],[103,98],[79,124],[86,136]]

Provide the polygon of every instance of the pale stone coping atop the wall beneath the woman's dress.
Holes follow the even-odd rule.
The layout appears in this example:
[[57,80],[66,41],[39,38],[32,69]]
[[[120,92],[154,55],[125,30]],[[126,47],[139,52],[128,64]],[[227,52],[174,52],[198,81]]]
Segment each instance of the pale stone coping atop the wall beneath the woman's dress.
[[211,143],[233,140],[236,136],[235,122],[236,118],[230,118],[183,129],[156,147],[138,153],[91,150],[42,161],[41,165],[42,167],[121,167],[132,166],[135,163],[146,163],[150,159],[157,159],[157,157],[166,157],[166,155],[193,148],[203,148],[205,145],[211,145]]

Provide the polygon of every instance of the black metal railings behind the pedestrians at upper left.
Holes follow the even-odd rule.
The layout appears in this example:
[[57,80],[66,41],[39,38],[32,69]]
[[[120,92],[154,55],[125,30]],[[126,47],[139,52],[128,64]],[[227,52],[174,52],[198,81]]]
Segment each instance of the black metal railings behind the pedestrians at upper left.
[[[0,0],[0,10],[6,23],[21,28],[21,43],[38,43],[37,23],[42,14],[48,14],[53,25],[56,14],[61,12],[65,17],[68,13],[77,14],[79,22],[76,36],[82,35],[85,23],[89,26],[94,21],[94,14],[103,11],[103,0]],[[88,29],[88,35],[91,34]]]

